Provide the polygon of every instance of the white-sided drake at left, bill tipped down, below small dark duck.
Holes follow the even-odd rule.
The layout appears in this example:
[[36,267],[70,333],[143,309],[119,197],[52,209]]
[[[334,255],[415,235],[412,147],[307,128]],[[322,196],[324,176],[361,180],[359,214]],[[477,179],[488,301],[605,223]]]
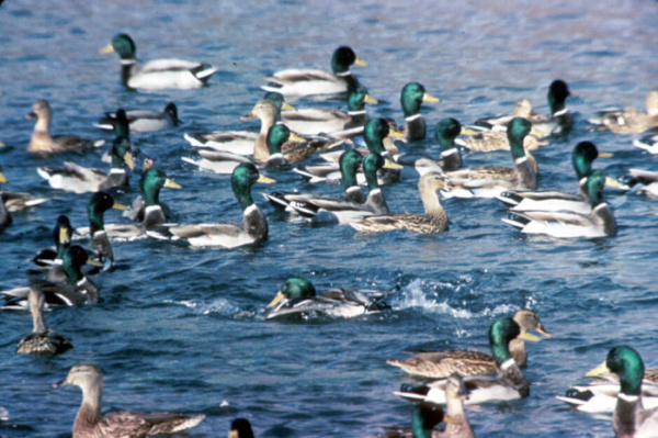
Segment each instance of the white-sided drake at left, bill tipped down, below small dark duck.
[[36,172],[53,189],[65,190],[73,193],[97,192],[115,187],[128,186],[126,166],[135,168],[133,154],[131,153],[131,141],[120,136],[112,145],[112,167],[109,172],[95,168],[87,168],[71,161],[66,161],[64,168],[55,169],[38,167]]

